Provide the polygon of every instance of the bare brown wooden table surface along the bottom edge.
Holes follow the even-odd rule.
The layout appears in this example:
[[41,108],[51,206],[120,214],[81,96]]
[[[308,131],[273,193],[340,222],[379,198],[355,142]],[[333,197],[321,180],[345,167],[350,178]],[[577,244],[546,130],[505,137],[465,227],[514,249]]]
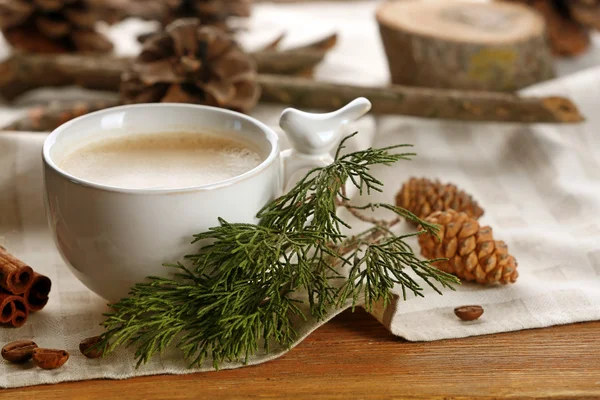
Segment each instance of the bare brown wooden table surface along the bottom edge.
[[344,312],[255,367],[0,391],[0,399],[600,398],[600,322],[429,343]]

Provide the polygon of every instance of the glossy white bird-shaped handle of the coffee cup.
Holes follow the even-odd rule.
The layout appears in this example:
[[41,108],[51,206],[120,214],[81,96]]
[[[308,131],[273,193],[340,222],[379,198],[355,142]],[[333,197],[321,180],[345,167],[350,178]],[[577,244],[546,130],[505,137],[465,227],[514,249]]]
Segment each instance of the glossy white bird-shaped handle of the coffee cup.
[[279,126],[292,145],[281,153],[283,162],[283,187],[293,175],[303,169],[325,167],[334,160],[331,150],[342,139],[348,123],[357,120],[371,109],[364,97],[353,100],[337,111],[313,114],[288,108],[281,113]]

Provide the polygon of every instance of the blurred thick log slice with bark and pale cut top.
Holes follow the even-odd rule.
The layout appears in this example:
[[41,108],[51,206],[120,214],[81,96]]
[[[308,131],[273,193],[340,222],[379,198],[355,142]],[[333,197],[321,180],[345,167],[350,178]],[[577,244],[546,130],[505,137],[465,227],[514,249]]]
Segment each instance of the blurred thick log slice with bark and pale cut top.
[[395,84],[514,91],[554,77],[544,19],[525,6],[391,1],[376,16]]

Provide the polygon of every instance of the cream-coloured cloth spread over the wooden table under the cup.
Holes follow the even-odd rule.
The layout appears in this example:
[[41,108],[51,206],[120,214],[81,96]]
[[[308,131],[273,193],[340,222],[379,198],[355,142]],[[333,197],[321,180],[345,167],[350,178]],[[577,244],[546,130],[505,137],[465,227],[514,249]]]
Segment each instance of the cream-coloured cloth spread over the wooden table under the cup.
[[[277,15],[280,26],[291,32],[307,20],[315,27],[335,27],[342,42],[319,75],[365,84],[385,81],[376,28],[364,18],[373,11],[371,2],[312,4],[313,11],[295,7],[262,5],[254,24],[268,26],[267,21]],[[113,34],[127,29],[117,28]],[[312,32],[320,34],[318,29]],[[559,67],[578,69],[568,64]],[[494,228],[496,237],[508,243],[519,261],[521,276],[510,287],[464,284],[443,296],[426,290],[425,299],[400,300],[386,310],[376,310],[375,316],[394,334],[429,341],[600,319],[600,69],[539,85],[529,93],[568,95],[588,122],[523,126],[367,118],[357,125],[361,136],[354,142],[356,147],[412,143],[419,153],[412,162],[378,169],[387,190],[371,200],[391,202],[402,182],[413,175],[456,183],[480,201],[486,209],[482,222]],[[280,110],[261,107],[255,116],[275,126]],[[5,108],[0,116],[13,114]],[[53,281],[46,309],[32,315],[23,328],[0,329],[0,344],[32,338],[45,347],[66,349],[72,356],[56,371],[0,362],[0,387],[199,371],[187,369],[177,351],[140,369],[135,369],[129,350],[102,360],[79,354],[79,341],[101,332],[101,314],[108,308],[71,275],[50,238],[42,202],[40,152],[45,136],[0,134],[0,244]],[[452,310],[464,304],[482,305],[484,316],[462,323]],[[299,326],[298,342],[323,323],[309,320]],[[275,349],[269,355],[258,354],[250,363],[283,353],[284,349]],[[210,365],[203,370],[208,369]]]

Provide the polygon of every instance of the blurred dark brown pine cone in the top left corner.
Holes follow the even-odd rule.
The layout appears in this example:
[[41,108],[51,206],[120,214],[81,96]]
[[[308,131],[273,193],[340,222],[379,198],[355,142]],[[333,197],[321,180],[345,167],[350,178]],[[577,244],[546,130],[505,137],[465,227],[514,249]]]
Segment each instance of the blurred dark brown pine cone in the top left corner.
[[15,48],[38,53],[109,52],[86,0],[0,0],[0,29]]

